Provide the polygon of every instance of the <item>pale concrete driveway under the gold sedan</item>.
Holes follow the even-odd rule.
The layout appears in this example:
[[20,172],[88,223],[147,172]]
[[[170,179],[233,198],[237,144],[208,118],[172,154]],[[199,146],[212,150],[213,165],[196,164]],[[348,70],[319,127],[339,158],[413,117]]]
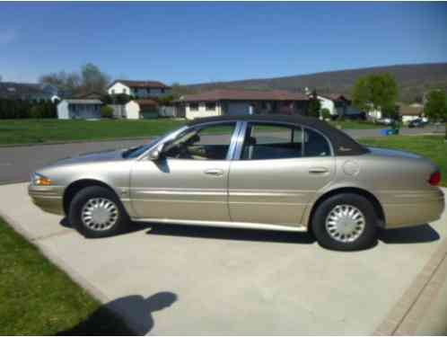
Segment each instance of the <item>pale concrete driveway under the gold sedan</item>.
[[136,333],[446,332],[445,214],[338,253],[305,234],[195,226],[85,239],[33,206],[25,184],[0,195],[0,214]]

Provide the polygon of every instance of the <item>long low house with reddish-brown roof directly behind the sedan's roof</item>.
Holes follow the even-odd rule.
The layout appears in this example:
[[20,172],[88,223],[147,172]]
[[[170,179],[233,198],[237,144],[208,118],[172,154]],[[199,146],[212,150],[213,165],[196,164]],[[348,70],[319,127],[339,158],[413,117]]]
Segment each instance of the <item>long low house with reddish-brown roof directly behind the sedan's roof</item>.
[[176,101],[176,116],[194,120],[220,115],[304,114],[309,98],[286,91],[214,90]]

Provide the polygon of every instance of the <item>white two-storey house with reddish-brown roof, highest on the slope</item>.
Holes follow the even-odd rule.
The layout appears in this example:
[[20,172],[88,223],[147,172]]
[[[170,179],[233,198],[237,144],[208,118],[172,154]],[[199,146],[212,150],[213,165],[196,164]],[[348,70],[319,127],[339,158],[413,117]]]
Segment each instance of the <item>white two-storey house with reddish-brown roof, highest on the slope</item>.
[[170,95],[171,86],[158,81],[116,80],[110,84],[107,92],[110,95],[124,93],[137,99],[155,98]]

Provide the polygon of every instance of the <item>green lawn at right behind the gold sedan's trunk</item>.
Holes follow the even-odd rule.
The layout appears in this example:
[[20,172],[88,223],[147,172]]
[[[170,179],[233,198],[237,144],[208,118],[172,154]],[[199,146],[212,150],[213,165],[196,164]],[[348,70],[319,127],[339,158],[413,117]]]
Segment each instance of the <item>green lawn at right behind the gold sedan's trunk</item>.
[[441,136],[389,136],[359,139],[370,146],[392,147],[424,155],[441,167],[441,185],[447,187],[447,142]]

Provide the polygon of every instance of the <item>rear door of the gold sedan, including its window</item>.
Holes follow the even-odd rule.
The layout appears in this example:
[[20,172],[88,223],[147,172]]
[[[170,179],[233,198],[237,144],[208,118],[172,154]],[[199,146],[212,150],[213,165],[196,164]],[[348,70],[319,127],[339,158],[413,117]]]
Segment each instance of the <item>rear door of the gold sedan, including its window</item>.
[[230,167],[232,221],[299,226],[312,197],[334,177],[329,140],[288,124],[249,122],[244,129]]

